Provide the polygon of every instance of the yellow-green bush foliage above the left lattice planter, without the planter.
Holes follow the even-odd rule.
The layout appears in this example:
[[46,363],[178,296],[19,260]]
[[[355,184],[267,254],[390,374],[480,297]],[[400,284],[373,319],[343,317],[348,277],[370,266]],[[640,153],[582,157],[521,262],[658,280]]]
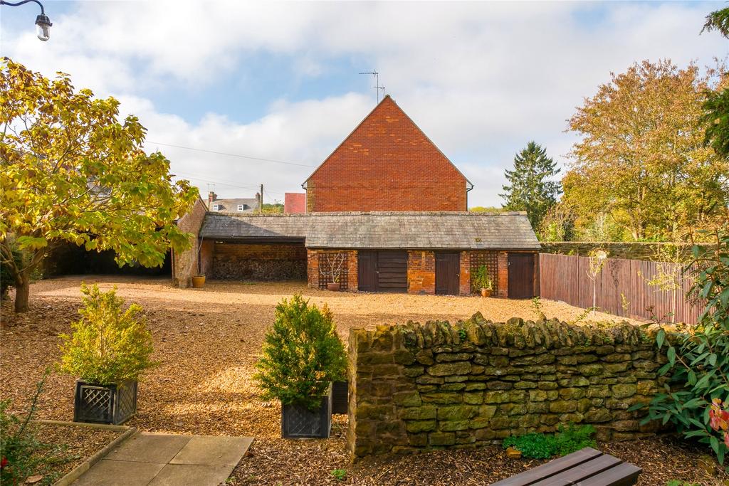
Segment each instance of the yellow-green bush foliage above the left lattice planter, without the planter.
[[101,292],[96,285],[82,284],[81,291],[81,319],[71,324],[73,334],[61,334],[61,371],[101,385],[137,380],[153,365],[152,334],[140,315],[141,306],[123,310],[124,299],[117,297],[116,287]]

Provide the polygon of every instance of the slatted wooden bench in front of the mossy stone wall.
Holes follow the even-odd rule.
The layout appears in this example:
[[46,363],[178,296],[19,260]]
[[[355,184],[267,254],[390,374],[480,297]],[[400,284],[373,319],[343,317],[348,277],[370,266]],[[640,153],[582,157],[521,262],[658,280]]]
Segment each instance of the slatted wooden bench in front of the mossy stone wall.
[[622,459],[585,447],[491,486],[632,486],[642,471]]

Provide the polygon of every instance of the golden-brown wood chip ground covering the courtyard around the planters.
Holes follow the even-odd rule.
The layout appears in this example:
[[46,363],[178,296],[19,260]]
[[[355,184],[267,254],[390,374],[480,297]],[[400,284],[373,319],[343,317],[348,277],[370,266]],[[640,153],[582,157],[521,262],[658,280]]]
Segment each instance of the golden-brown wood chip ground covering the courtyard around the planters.
[[[351,466],[344,448],[346,418],[335,421],[335,438],[330,441],[281,439],[280,407],[258,398],[260,392],[252,374],[276,303],[295,292],[302,292],[317,305],[326,302],[344,340],[351,327],[408,320],[458,321],[477,311],[495,321],[513,316],[534,318],[528,300],[333,293],[308,289],[304,283],[213,281],[206,283],[205,289],[174,289],[168,279],[121,276],[40,281],[31,286],[30,312],[15,315],[9,302],[1,309],[0,393],[11,399],[14,407],[20,409],[26,403],[44,368],[58,361],[58,334],[69,332],[71,321],[78,318],[81,281],[99,283],[102,289],[117,285],[118,294],[127,303],[141,304],[155,340],[153,358],[159,364],[141,381],[138,413],[126,425],[173,434],[254,436],[257,440],[252,456],[241,461],[232,479],[234,484],[339,483],[331,476],[332,469],[352,471],[345,481],[351,484],[477,484],[476,479],[467,479],[471,474],[467,471],[482,471],[481,476],[473,477],[483,478],[483,471],[501,468],[502,472],[516,472],[526,467],[504,460],[496,447],[391,459],[391,466],[371,469],[366,465]],[[583,312],[561,302],[542,301],[542,305],[545,315],[566,321]],[[620,320],[601,313],[588,319]],[[38,418],[72,420],[73,390],[74,377],[53,372],[39,400]],[[454,462],[448,466],[448,461]],[[397,474],[382,474],[389,467]],[[405,467],[410,470],[408,474],[433,482],[401,476],[399,470]],[[451,468],[448,477],[452,479],[444,475],[444,467]],[[697,466],[687,467],[699,471]],[[502,476],[491,480],[498,477]]]

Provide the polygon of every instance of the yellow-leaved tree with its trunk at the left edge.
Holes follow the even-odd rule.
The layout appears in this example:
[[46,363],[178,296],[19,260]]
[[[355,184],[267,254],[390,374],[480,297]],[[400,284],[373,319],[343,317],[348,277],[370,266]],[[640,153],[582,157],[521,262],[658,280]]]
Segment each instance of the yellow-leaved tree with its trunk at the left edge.
[[[74,90],[5,58],[0,74],[0,255],[28,309],[31,274],[63,242],[114,250],[119,264],[163,264],[189,245],[174,224],[198,197],[170,163],[142,150],[139,119],[114,98]],[[14,257],[14,252],[20,257]]]

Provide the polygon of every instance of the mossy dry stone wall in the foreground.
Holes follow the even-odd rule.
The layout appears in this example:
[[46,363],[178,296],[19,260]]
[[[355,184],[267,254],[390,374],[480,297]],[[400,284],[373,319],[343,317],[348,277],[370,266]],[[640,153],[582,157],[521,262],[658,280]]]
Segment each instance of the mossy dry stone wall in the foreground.
[[512,434],[590,423],[599,439],[655,432],[640,425],[665,378],[655,338],[628,323],[428,322],[352,329],[348,447],[388,452],[477,447]]

